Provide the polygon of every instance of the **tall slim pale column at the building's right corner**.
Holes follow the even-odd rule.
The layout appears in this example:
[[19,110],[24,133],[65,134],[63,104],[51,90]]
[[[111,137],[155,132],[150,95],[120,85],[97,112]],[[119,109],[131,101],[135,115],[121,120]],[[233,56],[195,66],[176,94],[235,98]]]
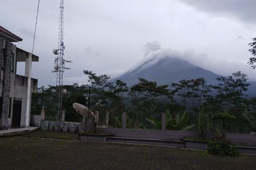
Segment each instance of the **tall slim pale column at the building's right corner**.
[[25,126],[29,126],[30,119],[30,104],[31,104],[31,64],[32,64],[32,54],[29,53],[28,58],[26,59],[25,66],[25,76],[28,77],[28,87],[26,94],[26,112],[25,112]]

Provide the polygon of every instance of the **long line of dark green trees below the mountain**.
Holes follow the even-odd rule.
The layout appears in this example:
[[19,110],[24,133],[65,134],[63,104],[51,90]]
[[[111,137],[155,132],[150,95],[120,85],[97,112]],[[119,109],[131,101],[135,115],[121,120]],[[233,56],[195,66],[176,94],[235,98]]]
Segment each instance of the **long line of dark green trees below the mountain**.
[[[138,78],[138,83],[132,87],[127,87],[121,80],[112,81],[108,75],[98,76],[89,70],[84,70],[84,74],[89,78],[89,85],[74,83],[63,86],[67,91],[63,94],[66,121],[82,121],[72,107],[77,102],[90,107],[93,112],[99,111],[100,122],[104,121],[104,114],[108,111],[112,127],[120,124],[121,114],[126,112],[130,128],[159,128],[161,113],[166,113],[170,120],[166,124],[169,129],[188,126],[199,131],[218,128],[227,132],[256,131],[256,98],[244,94],[249,83],[247,75],[240,71],[217,78],[217,85],[207,84],[204,78],[164,85]],[[38,88],[38,93],[32,94],[31,113],[40,114],[42,105],[46,118],[55,120],[55,86]],[[182,120],[184,125],[181,126],[177,122],[182,123],[182,116],[186,121]]]

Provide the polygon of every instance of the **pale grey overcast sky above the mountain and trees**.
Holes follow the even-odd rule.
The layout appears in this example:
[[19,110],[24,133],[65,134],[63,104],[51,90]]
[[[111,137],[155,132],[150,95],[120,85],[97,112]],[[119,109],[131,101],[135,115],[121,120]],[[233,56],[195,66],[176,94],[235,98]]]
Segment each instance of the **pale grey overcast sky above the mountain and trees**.
[[[23,41],[31,52],[38,1],[1,1],[0,25]],[[59,0],[41,0],[32,76],[39,86],[55,84],[52,50],[59,33]],[[227,76],[235,71],[256,81],[247,65],[256,37],[255,0],[64,1],[64,84],[87,83],[84,69],[117,77],[145,59],[145,44],[181,53],[183,59]],[[18,66],[22,68],[20,63]],[[22,71],[22,72],[21,72]],[[18,69],[19,74],[24,70]]]

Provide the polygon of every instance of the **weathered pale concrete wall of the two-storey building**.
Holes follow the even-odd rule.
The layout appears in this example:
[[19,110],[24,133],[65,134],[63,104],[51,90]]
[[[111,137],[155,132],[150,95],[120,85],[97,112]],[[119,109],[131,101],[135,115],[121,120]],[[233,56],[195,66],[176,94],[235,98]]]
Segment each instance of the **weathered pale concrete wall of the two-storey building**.
[[[8,55],[7,60],[6,54],[2,57],[3,49],[6,44],[11,45],[10,55]],[[29,67],[31,67],[32,61],[38,61],[38,56],[17,48],[16,45],[8,42],[8,40],[3,37],[0,37],[0,46],[2,47],[0,47],[0,97],[2,103],[1,110],[4,110],[3,113],[2,111],[0,113],[0,129],[12,127],[14,101],[21,101],[19,126],[29,126],[31,92],[37,92],[38,84],[37,79],[31,78],[31,70]],[[6,60],[5,62],[3,61],[4,59]],[[26,69],[24,70],[25,76],[16,75],[17,62],[26,62]],[[4,68],[2,68],[2,63]],[[30,80],[30,86],[28,86],[28,79]],[[28,89],[28,87],[30,87],[30,89]],[[3,126],[4,128],[2,128]]]

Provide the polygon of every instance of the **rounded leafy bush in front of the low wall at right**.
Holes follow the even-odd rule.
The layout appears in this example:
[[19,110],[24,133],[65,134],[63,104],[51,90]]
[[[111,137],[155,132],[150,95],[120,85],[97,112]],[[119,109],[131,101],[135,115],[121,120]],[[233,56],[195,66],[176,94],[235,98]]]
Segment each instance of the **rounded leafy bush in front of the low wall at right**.
[[231,145],[230,140],[224,136],[216,135],[213,141],[207,143],[207,152],[216,155],[238,156],[238,150],[235,145]]

